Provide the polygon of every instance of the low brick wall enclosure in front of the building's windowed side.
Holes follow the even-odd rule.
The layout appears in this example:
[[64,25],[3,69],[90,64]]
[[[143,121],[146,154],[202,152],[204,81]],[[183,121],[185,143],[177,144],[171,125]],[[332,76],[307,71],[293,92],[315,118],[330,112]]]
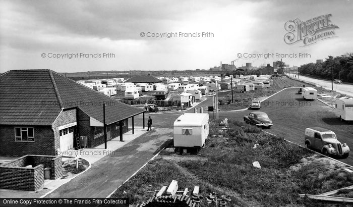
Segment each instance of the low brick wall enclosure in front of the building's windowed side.
[[[26,166],[32,165],[32,168]],[[27,155],[0,165],[0,188],[36,191],[44,185],[44,168],[51,168],[50,179],[63,175],[61,157]]]

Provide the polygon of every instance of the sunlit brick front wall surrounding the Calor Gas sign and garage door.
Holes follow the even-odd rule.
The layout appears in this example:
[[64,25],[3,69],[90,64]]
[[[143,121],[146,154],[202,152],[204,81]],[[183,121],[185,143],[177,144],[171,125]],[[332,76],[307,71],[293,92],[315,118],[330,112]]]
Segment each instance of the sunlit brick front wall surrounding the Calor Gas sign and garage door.
[[[70,124],[73,122],[76,122],[76,109],[62,111],[62,113],[60,113],[60,115],[57,116],[56,120],[51,125],[52,130],[54,132],[54,149],[60,148],[60,133],[59,133],[60,130],[58,129],[58,127],[66,124]],[[77,133],[76,130],[74,130],[74,133]],[[75,143],[75,140],[73,140],[73,143]]]

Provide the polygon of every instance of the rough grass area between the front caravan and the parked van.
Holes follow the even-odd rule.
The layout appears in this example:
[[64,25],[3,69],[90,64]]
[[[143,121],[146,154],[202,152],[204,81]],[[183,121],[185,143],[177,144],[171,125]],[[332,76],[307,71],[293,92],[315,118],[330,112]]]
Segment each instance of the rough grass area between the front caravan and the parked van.
[[[300,198],[299,194],[320,194],[353,185],[352,175],[330,159],[255,126],[232,120],[228,124],[228,130],[223,131],[218,121],[210,123],[211,136],[201,156],[159,156],[112,196],[141,203],[152,196],[145,191],[159,190],[178,180],[179,189],[200,186],[204,196],[201,206],[216,206],[206,202],[212,191],[230,196],[229,206],[323,206],[330,203]],[[261,168],[253,167],[255,161]]]

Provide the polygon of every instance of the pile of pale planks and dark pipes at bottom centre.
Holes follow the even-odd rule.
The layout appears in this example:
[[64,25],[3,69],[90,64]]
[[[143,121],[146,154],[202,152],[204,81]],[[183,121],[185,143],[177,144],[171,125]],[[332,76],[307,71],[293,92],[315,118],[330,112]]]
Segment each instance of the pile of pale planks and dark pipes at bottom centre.
[[[183,191],[178,191],[178,181],[172,180],[169,187],[163,186],[160,190],[148,191],[153,192],[153,196],[150,197],[147,202],[136,204],[136,207],[140,206],[189,206],[199,207],[201,204],[202,195],[199,195],[199,186],[195,186],[193,193],[188,195],[188,188]],[[179,194],[182,193],[182,194]]]

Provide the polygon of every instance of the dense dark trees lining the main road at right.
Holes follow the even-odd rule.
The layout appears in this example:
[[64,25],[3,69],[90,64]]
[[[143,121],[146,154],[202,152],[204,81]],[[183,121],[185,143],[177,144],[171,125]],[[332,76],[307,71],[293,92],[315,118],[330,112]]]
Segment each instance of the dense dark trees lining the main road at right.
[[[331,80],[340,79],[343,82],[353,82],[353,53],[332,57],[323,63],[309,63],[298,68],[299,74],[310,75]],[[331,72],[332,71],[332,72]]]

